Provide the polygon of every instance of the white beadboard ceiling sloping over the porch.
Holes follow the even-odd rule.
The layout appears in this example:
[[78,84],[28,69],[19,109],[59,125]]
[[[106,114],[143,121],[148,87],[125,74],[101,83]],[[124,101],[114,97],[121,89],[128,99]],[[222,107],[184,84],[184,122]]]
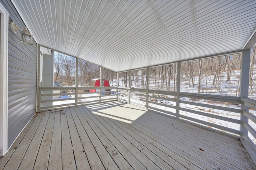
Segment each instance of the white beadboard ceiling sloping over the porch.
[[11,1],[38,44],[118,72],[240,51],[256,28],[256,0]]

